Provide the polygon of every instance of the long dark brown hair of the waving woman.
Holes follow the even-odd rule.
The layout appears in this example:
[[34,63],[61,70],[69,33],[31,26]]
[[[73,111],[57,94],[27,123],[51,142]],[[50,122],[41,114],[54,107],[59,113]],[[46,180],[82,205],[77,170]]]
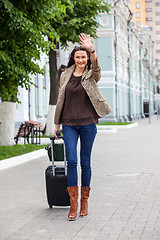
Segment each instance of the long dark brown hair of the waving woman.
[[67,64],[67,68],[71,67],[72,65],[75,64],[75,61],[74,61],[74,54],[75,52],[77,51],[86,51],[87,53],[87,56],[88,56],[88,61],[87,61],[87,66],[88,66],[88,69],[90,69],[90,66],[91,66],[91,60],[90,60],[90,53],[88,52],[88,50],[86,48],[84,48],[83,46],[75,46],[71,52],[71,54],[69,55],[69,60],[68,60],[68,64]]

